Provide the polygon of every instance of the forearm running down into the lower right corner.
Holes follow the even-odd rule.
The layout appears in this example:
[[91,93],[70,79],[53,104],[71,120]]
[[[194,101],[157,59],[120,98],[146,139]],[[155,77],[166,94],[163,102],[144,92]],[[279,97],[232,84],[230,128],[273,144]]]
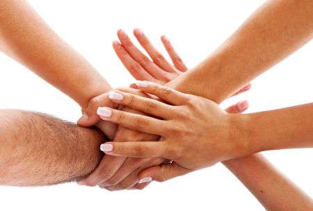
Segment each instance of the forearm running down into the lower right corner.
[[310,210],[313,201],[261,154],[224,161],[266,210]]

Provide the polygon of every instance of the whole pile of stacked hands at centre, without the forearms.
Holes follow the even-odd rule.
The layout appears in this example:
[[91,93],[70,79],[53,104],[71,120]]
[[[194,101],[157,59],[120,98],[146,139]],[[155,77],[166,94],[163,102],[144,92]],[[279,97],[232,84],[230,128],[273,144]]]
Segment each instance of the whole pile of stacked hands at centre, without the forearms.
[[[167,39],[167,37],[162,36],[161,40],[163,42],[164,47],[166,47],[166,51],[168,51],[168,54],[170,58],[172,59],[172,62],[174,65],[170,65],[170,62],[168,62],[161,55],[161,53],[159,53],[159,51],[157,51],[157,49],[154,48],[154,46],[151,44],[151,42],[147,39],[147,37],[143,34],[141,30],[139,29],[134,30],[134,35],[136,36],[138,42],[145,49],[145,51],[147,51],[147,53],[152,58],[152,60],[147,58],[139,49],[137,49],[134,46],[134,44],[131,42],[127,34],[122,30],[118,31],[118,37],[120,39],[121,44],[117,41],[113,42],[113,48],[115,49],[115,52],[117,53],[118,57],[120,58],[122,63],[125,65],[125,67],[134,76],[134,78],[138,80],[152,81],[154,83],[159,83],[159,84],[164,85],[187,70],[186,65],[184,65],[184,62],[182,62],[182,60],[179,58],[179,56],[177,55],[175,49],[172,47],[172,44],[170,44],[170,41]],[[176,92],[175,90],[170,90],[166,87],[160,87],[154,83],[147,83],[149,85],[146,87],[147,90],[145,90],[145,87],[141,87],[141,90],[138,90],[137,88],[139,87],[136,87],[135,85],[131,85],[131,87],[134,87],[136,89],[122,88],[116,92],[111,92],[110,94],[106,93],[106,94],[97,96],[95,99],[90,101],[90,106],[88,106],[88,109],[86,110],[86,113],[88,113],[88,116],[90,116],[89,121],[79,121],[79,124],[83,126],[89,126],[99,121],[99,116],[97,116],[96,110],[99,107],[108,106],[107,103],[108,103],[109,96],[110,96],[110,99],[112,99],[113,102],[115,103],[113,104],[115,105],[115,107],[113,108],[117,108],[116,107],[117,104],[125,105],[125,108],[122,109],[125,113],[119,110],[114,110],[114,109],[112,110],[112,106],[111,108],[106,108],[112,112],[112,116],[109,119],[105,117],[102,117],[102,119],[120,124],[120,127],[118,128],[118,132],[116,133],[115,138],[112,142],[113,144],[120,144],[120,142],[129,142],[129,143],[123,143],[123,144],[129,144],[129,145],[127,145],[127,147],[124,147],[124,145],[116,145],[116,146],[114,145],[115,147],[113,147],[113,151],[106,152],[106,155],[104,156],[102,162],[99,164],[99,167],[97,167],[97,169],[95,169],[95,171],[93,171],[93,173],[90,174],[90,176],[88,176],[85,180],[82,180],[80,182],[81,184],[90,185],[90,186],[99,185],[100,187],[104,187],[109,190],[132,189],[132,188],[142,189],[143,187],[148,185],[148,183],[146,182],[150,182],[152,179],[159,180],[159,181],[168,180],[169,178],[186,174],[195,169],[207,167],[220,160],[223,160],[226,158],[232,158],[236,156],[235,155],[236,153],[231,151],[231,149],[222,149],[224,147],[223,144],[225,144],[225,146],[228,144],[227,135],[224,134],[224,137],[211,137],[211,135],[209,135],[207,137],[211,137],[211,139],[207,140],[207,137],[204,138],[204,133],[202,133],[202,131],[199,132],[200,134],[199,133],[195,134],[194,133],[195,131],[192,130],[193,127],[188,125],[188,124],[191,124],[195,126],[193,121],[201,120],[202,121],[201,127],[203,130],[204,130],[203,126],[207,126],[207,127],[213,126],[207,123],[206,119],[204,118],[204,114],[200,112],[200,110],[203,110],[204,112],[205,109],[209,109],[209,112],[205,114],[205,117],[211,117],[211,118],[223,117],[222,118],[223,121],[220,121],[220,124],[221,124],[220,126],[226,126],[226,124],[229,124],[230,118],[227,116],[227,114],[223,110],[220,110],[218,105],[216,105],[214,102],[209,101],[207,99],[202,99],[197,96],[191,96],[188,94],[185,95],[185,94]],[[140,84],[144,84],[144,82],[141,82]],[[164,93],[163,92],[160,93],[160,92],[157,92],[157,90],[153,90],[153,87],[158,87],[158,88],[160,87],[160,90],[159,90],[160,92],[162,89],[166,91],[164,91]],[[152,90],[150,88],[152,88]],[[249,90],[249,89],[250,89],[250,85],[247,85],[246,87],[243,87],[243,89],[239,90],[239,92],[237,92],[236,94],[245,92],[246,90]],[[146,92],[146,94],[144,92]],[[125,96],[123,97],[122,101],[118,100],[121,97],[120,94],[122,94],[122,96]],[[153,94],[154,96],[158,96],[159,98],[163,99],[163,101],[166,101],[167,103],[170,103],[171,105],[166,105],[156,100],[149,99],[152,95],[148,95],[148,94]],[[138,102],[138,96],[142,96],[141,98],[139,98],[139,100],[141,100],[142,102],[147,102],[147,104],[145,104],[144,107],[143,106],[140,107],[138,104],[136,104],[137,107],[136,105],[134,105],[135,102]],[[168,99],[168,97],[172,99]],[[129,98],[134,99],[134,101],[127,101],[127,99]],[[174,101],[174,99],[176,101]],[[192,103],[193,101],[201,103],[203,108],[200,108],[199,107],[200,105],[193,104]],[[161,109],[166,109],[166,111],[170,112],[172,116],[163,117],[163,115],[166,115],[166,112],[162,112],[161,110],[156,110],[157,109],[156,106],[159,106],[158,108],[161,108]],[[131,108],[135,110],[131,110]],[[186,110],[183,110],[182,108]],[[211,110],[211,108],[214,108],[215,110]],[[236,103],[236,105],[232,105],[230,108],[227,108],[226,111],[238,113],[238,112],[243,112],[247,108],[248,108],[247,101],[241,101],[239,103]],[[175,110],[175,111],[172,112],[172,110]],[[104,110],[99,109],[100,114],[101,114],[101,111],[103,115]],[[126,117],[127,119],[116,118],[114,120],[114,117],[116,117],[115,112],[118,112],[118,114],[120,113],[125,114],[122,117]],[[131,113],[129,112],[137,113],[137,115],[131,115]],[[188,112],[190,115],[190,119],[188,119],[188,121],[182,121],[182,119],[184,119],[183,116],[186,117],[187,116],[186,114]],[[138,115],[138,113],[142,115]],[[150,121],[148,121],[146,118],[149,118],[149,117],[143,116],[147,114],[152,115],[154,117],[160,117],[163,120],[150,118],[149,119]],[[176,114],[176,116],[174,116],[174,114]],[[129,115],[131,115],[130,121],[128,118]],[[200,117],[202,119],[197,119],[197,117]],[[168,121],[170,123],[175,122],[177,124],[175,124],[174,128],[171,128],[172,124],[166,125],[167,128],[165,128],[162,124],[161,125],[155,124],[156,122],[161,123],[162,121]],[[154,122],[154,124],[151,124],[150,122]],[[101,121],[100,121],[100,124],[101,124]],[[200,126],[201,125],[200,122],[197,125]],[[185,130],[185,129],[188,129],[188,130]],[[136,132],[135,130],[141,131],[143,133]],[[166,135],[168,136],[164,136],[163,133],[165,133],[165,131],[168,131],[168,130],[172,131],[172,133],[166,133]],[[210,131],[212,132],[212,130]],[[221,128],[220,128],[220,131],[221,131]],[[215,132],[218,133],[217,130]],[[192,152],[195,153],[198,151],[198,149],[201,149],[203,153],[207,154],[207,156],[205,157],[207,160],[198,160],[198,162],[195,162],[196,157],[192,157],[193,153],[191,153],[191,149],[189,150],[189,152],[184,151],[184,153],[186,153],[186,156],[188,155],[188,157],[181,158],[182,160],[173,159],[176,157],[175,153],[179,153],[184,150],[182,149],[182,147],[179,148],[178,147],[179,145],[174,147],[175,142],[177,142],[177,137],[181,137],[184,134],[185,135],[188,134],[188,137],[193,137],[193,138],[198,137],[196,138],[197,142],[201,143],[201,145],[195,144],[193,146]],[[174,135],[177,135],[177,137],[175,137],[175,140],[176,140],[175,142],[172,140],[172,137]],[[159,142],[155,142],[157,140],[159,140]],[[167,141],[165,142],[164,140],[167,140]],[[171,141],[168,142],[168,140],[171,140]],[[204,140],[207,140],[207,142],[202,142]],[[141,141],[148,141],[148,143],[141,142]],[[161,143],[160,141],[162,142],[162,144],[167,143],[169,145],[161,146],[159,145],[159,143]],[[221,141],[223,141],[223,144],[221,144],[222,143]],[[135,144],[134,142],[138,142],[138,143]],[[151,147],[147,147],[147,146],[150,146],[149,144],[158,144],[158,145],[153,146],[151,148]],[[188,146],[187,144],[188,142],[186,142],[186,146]],[[213,144],[209,146],[209,151],[203,150],[204,146],[207,146],[206,144],[207,145]],[[161,147],[165,147],[165,146],[170,146],[172,148],[163,150]],[[214,148],[216,149],[215,151],[213,150],[212,146],[216,147]],[[107,150],[107,149],[110,149],[111,146],[103,145],[102,147],[103,147],[102,150]],[[147,149],[147,151],[143,150],[140,147],[143,147],[143,149]],[[197,148],[197,147],[200,147],[200,148]],[[227,145],[227,147],[234,147],[234,146]],[[126,158],[127,157],[125,156],[126,153],[130,153],[131,149],[134,149],[134,148],[138,149],[139,151],[134,151],[133,154],[129,154],[130,155],[129,158]],[[180,149],[180,151],[177,151],[176,148]],[[128,149],[129,151],[122,151],[122,149],[125,149],[125,150]],[[149,150],[152,150],[152,151],[158,150],[159,151],[158,153],[160,154],[151,154],[152,151],[149,151]],[[225,151],[227,151],[228,153],[226,157],[224,157]],[[134,154],[136,152],[139,152],[139,153]],[[149,153],[149,154],[143,154],[143,153]],[[157,151],[155,151],[154,153],[157,153]],[[166,154],[161,154],[161,153],[168,153],[168,156],[166,156]],[[234,153],[234,155],[232,153]],[[111,155],[118,155],[120,157],[114,157]],[[157,158],[150,158],[150,157],[157,157]],[[159,157],[163,157],[163,158],[159,158]],[[184,161],[188,159],[190,159],[189,160],[190,163],[185,163]],[[175,162],[169,162],[171,160],[175,160]],[[192,166],[193,163],[197,165]]]

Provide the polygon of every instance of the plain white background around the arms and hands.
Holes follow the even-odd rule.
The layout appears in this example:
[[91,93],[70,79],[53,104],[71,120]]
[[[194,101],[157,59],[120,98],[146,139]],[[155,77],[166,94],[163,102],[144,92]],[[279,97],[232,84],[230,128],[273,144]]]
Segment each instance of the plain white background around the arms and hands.
[[[118,28],[141,27],[162,52],[168,35],[193,67],[216,49],[264,1],[29,1],[47,23],[113,85],[134,81],[113,52]],[[250,101],[248,112],[313,101],[313,43],[252,83],[252,90],[223,103]],[[249,62],[249,61],[247,61]],[[36,110],[76,121],[79,106],[28,69],[0,54],[0,108]],[[264,153],[313,196],[312,149]],[[143,191],[107,192],[75,183],[54,187],[0,187],[0,210],[263,210],[221,164],[152,183]]]

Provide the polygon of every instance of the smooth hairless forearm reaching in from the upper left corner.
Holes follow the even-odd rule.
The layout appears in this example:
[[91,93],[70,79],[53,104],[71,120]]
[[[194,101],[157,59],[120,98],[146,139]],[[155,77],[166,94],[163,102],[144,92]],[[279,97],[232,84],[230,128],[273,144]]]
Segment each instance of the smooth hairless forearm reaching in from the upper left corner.
[[90,63],[64,42],[26,1],[0,1],[0,50],[86,108],[111,90]]

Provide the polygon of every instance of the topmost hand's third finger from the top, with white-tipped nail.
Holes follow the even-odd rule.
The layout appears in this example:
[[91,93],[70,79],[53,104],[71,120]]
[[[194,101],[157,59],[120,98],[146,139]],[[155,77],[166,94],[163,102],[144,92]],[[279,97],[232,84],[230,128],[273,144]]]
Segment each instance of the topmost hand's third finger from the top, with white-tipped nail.
[[97,114],[103,120],[111,121],[131,130],[162,136],[166,133],[166,121],[161,119],[115,110],[108,107],[98,108]]

